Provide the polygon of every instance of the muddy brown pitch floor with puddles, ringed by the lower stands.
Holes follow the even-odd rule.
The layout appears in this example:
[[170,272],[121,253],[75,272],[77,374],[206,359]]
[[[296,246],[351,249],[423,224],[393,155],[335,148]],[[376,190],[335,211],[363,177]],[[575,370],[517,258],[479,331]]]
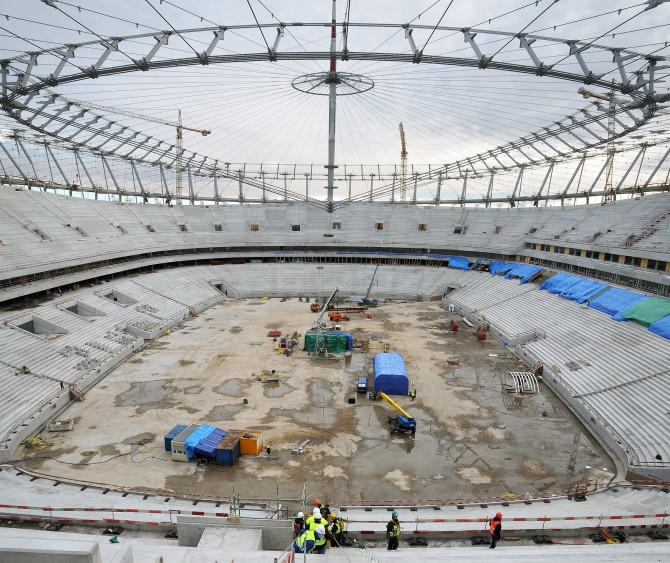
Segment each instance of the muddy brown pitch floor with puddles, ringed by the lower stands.
[[[297,499],[306,480],[310,496],[334,505],[558,491],[614,471],[544,386],[523,399],[503,395],[501,377],[524,366],[462,322],[449,331],[454,314],[439,302],[389,302],[369,312],[371,319],[341,323],[357,344],[369,342],[367,351],[316,358],[302,351],[317,317],[308,304],[217,305],[148,343],[62,413],[74,419],[72,432],[44,432],[46,446],[19,456],[39,456],[26,467],[61,479],[214,498],[234,488],[242,498]],[[270,330],[300,334],[291,356],[274,349]],[[397,397],[417,420],[413,437],[389,432],[388,403],[356,393],[385,344],[402,354],[417,390],[414,402]],[[280,381],[257,380],[272,369]],[[163,435],[200,423],[262,430],[270,455],[244,456],[233,467],[172,461]],[[307,439],[302,455],[292,454]]]

